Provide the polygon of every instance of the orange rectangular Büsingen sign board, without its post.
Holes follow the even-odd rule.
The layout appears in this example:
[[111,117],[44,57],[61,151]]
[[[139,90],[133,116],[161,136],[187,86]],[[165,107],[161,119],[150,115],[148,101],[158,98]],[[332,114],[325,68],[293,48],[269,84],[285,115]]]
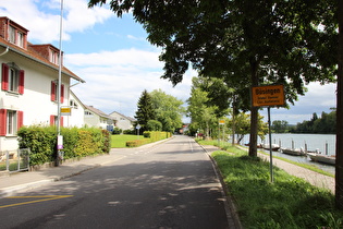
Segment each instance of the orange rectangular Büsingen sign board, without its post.
[[253,107],[284,106],[283,85],[253,87],[252,97]]

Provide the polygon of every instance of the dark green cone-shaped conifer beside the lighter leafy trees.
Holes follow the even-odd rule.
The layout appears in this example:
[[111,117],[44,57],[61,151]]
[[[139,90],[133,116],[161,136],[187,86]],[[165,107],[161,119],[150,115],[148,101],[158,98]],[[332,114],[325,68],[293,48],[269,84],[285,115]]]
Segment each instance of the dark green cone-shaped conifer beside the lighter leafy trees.
[[149,120],[156,119],[156,112],[152,107],[151,97],[146,89],[143,91],[139,97],[137,108],[135,118],[137,119],[137,124],[142,126],[139,131],[147,131],[147,123]]

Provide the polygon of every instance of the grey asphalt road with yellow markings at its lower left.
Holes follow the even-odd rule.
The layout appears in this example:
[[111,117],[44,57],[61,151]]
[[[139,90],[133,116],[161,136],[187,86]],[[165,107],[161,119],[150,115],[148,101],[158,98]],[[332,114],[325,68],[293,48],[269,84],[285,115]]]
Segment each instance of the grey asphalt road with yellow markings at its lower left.
[[193,138],[114,154],[106,166],[0,198],[0,228],[229,228],[211,160]]

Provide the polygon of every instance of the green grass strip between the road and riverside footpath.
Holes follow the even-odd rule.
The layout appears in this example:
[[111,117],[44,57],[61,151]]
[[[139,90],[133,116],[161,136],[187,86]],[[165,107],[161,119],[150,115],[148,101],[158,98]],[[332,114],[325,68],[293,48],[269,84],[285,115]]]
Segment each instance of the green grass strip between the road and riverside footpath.
[[[216,141],[200,141],[216,144]],[[343,212],[334,208],[334,196],[303,179],[225,143],[225,150],[211,155],[218,164],[229,195],[235,202],[244,228],[343,228]]]

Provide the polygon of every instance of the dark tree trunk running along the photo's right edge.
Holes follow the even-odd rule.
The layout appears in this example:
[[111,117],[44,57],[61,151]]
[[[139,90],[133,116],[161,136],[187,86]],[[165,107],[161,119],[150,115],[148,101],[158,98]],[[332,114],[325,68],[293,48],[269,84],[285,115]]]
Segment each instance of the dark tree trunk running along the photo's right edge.
[[335,206],[343,209],[343,0],[339,0],[339,73],[336,92]]

